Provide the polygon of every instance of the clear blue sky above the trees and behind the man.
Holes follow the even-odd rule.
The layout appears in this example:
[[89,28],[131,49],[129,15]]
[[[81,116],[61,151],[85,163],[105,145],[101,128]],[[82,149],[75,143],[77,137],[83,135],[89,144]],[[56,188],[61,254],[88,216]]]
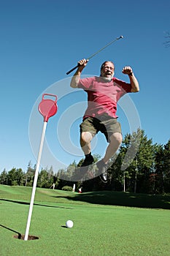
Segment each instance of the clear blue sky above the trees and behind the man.
[[[69,88],[73,73],[66,72],[120,35],[124,38],[89,61],[83,75],[99,75],[101,63],[112,60],[115,76],[128,82],[121,70],[130,65],[140,91],[118,106],[123,136],[131,132],[126,102],[127,109],[134,104],[134,122],[147,138],[166,144],[170,48],[163,42],[170,31],[169,13],[169,0],[0,1],[0,172],[12,167],[26,170],[29,161],[36,163],[43,125],[37,104],[43,93],[58,95],[58,113],[47,123],[45,141],[50,157],[57,159],[55,170],[82,158],[79,124],[86,95]],[[98,135],[93,153],[104,154],[106,146]],[[53,165],[50,157],[44,152],[42,167]]]

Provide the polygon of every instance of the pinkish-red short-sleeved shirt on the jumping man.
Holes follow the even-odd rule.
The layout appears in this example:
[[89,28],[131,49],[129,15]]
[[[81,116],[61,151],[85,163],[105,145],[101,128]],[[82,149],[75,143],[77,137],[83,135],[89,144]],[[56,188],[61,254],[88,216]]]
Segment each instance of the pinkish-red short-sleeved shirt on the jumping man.
[[78,88],[83,89],[88,94],[88,108],[84,116],[102,116],[107,113],[113,118],[117,118],[117,102],[124,94],[131,92],[131,84],[123,80],[112,78],[106,81],[101,77],[82,78]]

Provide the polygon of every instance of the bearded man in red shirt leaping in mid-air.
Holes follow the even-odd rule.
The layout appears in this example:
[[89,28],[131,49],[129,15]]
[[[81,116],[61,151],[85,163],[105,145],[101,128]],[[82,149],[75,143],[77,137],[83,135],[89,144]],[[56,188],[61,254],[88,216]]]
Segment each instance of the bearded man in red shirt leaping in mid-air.
[[117,101],[126,93],[139,91],[139,83],[134,76],[131,67],[124,67],[122,72],[128,75],[130,83],[125,83],[114,77],[115,65],[112,61],[105,61],[101,65],[100,77],[81,79],[82,70],[88,64],[88,60],[78,62],[78,68],[72,77],[70,86],[80,88],[88,93],[88,108],[80,124],[80,145],[85,154],[82,167],[93,163],[90,142],[100,131],[104,133],[107,142],[103,159],[97,162],[98,173],[104,183],[107,182],[107,164],[122,143],[120,123],[117,122]]

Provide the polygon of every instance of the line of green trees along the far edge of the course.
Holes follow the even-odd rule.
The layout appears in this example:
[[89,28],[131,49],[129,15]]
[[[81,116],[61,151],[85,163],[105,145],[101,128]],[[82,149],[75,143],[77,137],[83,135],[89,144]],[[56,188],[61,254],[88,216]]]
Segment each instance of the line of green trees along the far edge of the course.
[[[129,148],[131,154],[135,152],[133,159],[131,154],[128,155]],[[100,159],[99,155],[93,157],[95,162]],[[37,187],[72,190],[75,186],[76,191],[82,188],[84,192],[115,190],[147,194],[170,193],[170,140],[166,145],[153,144],[142,129],[126,134],[123,138],[119,151],[110,159],[107,184],[103,184],[90,171],[84,181],[75,182],[74,176],[77,176],[82,161],[78,164],[74,161],[66,169],[53,170],[53,166],[50,169],[42,168]],[[0,175],[0,184],[32,187],[35,170],[36,165],[32,167],[31,162],[26,172],[15,167],[8,172],[4,169]]]

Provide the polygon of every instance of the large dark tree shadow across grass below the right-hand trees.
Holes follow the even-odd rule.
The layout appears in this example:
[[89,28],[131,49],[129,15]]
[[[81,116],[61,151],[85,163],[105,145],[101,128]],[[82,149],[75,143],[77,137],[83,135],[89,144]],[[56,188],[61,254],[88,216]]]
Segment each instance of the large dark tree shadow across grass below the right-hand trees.
[[128,192],[102,191],[72,194],[70,196],[67,195],[64,198],[110,206],[170,209],[170,195],[146,195]]

